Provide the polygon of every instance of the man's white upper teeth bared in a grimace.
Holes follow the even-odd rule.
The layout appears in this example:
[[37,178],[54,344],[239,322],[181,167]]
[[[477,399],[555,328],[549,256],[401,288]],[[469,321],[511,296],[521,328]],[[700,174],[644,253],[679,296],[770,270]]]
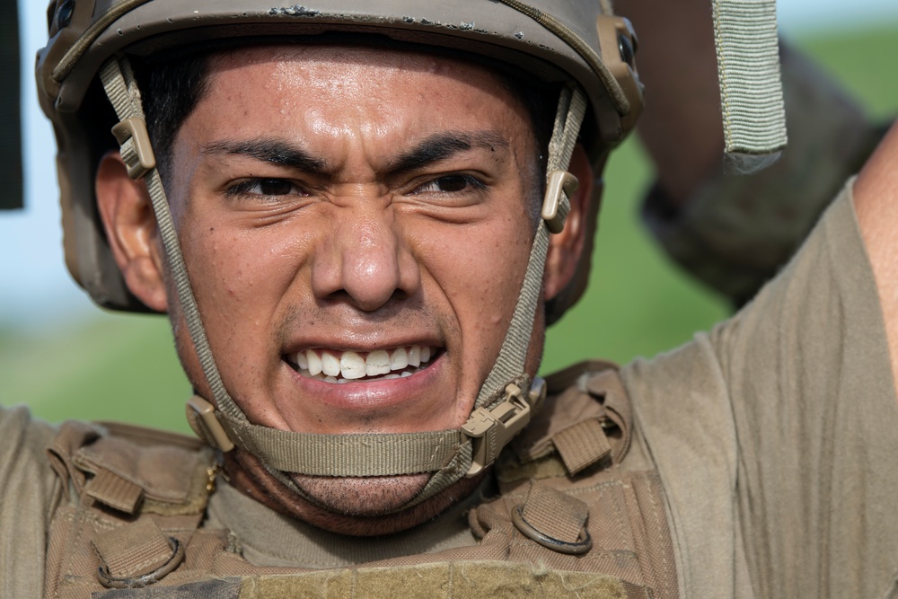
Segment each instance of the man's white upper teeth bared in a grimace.
[[347,380],[364,376],[380,376],[401,371],[409,366],[417,368],[430,361],[432,351],[428,346],[413,345],[391,350],[376,349],[366,356],[355,351],[342,353],[329,350],[305,349],[290,356],[303,374],[332,376]]

